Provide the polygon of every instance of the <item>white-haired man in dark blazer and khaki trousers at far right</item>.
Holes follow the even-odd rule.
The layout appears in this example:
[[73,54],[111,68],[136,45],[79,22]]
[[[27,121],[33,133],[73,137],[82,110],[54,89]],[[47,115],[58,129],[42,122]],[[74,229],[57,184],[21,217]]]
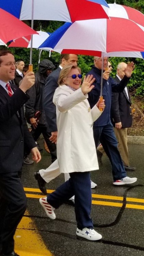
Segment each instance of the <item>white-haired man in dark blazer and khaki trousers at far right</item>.
[[[120,62],[117,66],[116,83],[124,78],[127,64]],[[127,145],[127,128],[132,125],[131,100],[128,87],[121,93],[112,92],[111,122],[114,126],[115,136],[118,141],[118,150],[124,163],[125,170],[133,171],[135,167],[129,166],[129,153]]]

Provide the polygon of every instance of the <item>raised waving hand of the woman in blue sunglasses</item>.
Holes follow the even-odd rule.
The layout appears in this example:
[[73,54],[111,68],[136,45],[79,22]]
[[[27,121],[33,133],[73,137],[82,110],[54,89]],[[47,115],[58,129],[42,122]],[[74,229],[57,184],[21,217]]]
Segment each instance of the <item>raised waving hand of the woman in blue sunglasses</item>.
[[93,87],[95,87],[94,85],[92,85],[94,81],[95,78],[93,78],[93,75],[88,75],[87,77],[84,76],[84,80],[81,86],[83,94],[89,93],[93,89]]

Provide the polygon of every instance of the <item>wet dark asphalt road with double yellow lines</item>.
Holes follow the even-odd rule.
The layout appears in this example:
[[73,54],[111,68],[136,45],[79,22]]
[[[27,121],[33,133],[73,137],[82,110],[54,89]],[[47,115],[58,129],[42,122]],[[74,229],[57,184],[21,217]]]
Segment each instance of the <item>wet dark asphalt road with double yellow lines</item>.
[[[42,139],[40,144],[43,147]],[[127,174],[130,177],[136,176],[136,183],[114,186],[111,164],[106,156],[102,157],[103,165],[100,169],[91,172],[91,180],[97,183],[97,188],[92,189],[91,217],[94,228],[102,234],[102,240],[97,242],[76,239],[74,207],[63,204],[55,210],[56,219],[51,220],[39,204],[39,198],[43,195],[38,190],[33,172],[47,168],[51,164],[50,155],[43,150],[41,162],[24,165],[22,182],[28,197],[25,217],[32,219],[33,232],[40,236],[41,241],[38,240],[38,243],[43,243],[51,255],[144,256],[144,145],[128,146],[130,165],[135,166],[136,170]],[[47,192],[51,193],[63,182],[64,175],[60,174],[46,185]],[[32,237],[26,239],[30,247]],[[49,254],[41,251],[37,255]]]

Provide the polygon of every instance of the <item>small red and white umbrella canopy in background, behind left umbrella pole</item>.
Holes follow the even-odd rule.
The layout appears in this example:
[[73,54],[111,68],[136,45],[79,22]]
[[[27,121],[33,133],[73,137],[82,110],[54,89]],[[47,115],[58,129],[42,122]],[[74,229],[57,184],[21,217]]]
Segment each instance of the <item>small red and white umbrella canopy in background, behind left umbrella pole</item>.
[[[32,48],[38,48],[48,37],[49,33],[44,31],[37,31],[38,34],[33,35],[32,40]],[[17,38],[12,43],[10,43],[9,47],[31,47],[31,36]]]

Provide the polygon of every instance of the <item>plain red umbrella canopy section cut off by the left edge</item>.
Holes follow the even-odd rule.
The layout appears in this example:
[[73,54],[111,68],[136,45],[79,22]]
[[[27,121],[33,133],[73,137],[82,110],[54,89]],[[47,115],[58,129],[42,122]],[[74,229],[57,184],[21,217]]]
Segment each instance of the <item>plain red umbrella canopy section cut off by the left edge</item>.
[[10,40],[31,34],[37,34],[37,32],[0,8],[0,45],[5,45]]

